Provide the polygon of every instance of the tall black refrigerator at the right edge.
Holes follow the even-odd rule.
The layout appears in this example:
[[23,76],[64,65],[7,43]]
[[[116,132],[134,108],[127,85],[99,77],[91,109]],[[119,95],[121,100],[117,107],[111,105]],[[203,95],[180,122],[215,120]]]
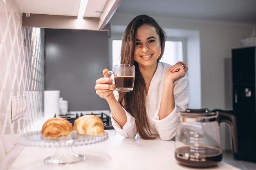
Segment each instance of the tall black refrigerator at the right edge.
[[256,162],[255,46],[232,49],[233,110],[238,152],[235,159]]

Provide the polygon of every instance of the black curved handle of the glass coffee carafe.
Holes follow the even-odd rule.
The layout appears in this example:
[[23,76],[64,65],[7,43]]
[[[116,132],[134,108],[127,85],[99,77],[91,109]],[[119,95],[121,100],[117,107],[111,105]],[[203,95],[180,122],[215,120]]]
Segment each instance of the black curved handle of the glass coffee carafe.
[[212,112],[218,112],[218,122],[219,124],[221,122],[226,122],[230,125],[230,131],[231,131],[231,141],[232,141],[232,147],[233,152],[238,152],[238,140],[237,140],[237,133],[236,133],[236,113],[234,110],[220,110],[220,109],[214,109]]

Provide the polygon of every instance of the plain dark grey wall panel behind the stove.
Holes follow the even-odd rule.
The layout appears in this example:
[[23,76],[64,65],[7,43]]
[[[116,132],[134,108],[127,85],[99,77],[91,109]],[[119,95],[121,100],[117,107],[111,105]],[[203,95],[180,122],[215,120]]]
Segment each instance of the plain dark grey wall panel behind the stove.
[[45,90],[59,90],[70,111],[109,110],[94,89],[110,67],[108,32],[46,29],[45,57]]

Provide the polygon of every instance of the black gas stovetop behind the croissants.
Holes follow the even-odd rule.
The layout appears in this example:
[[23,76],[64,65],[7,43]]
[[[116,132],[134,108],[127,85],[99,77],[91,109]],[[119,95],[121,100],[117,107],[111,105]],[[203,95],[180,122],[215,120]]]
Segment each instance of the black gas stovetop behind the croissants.
[[[74,121],[84,115],[96,115],[99,118],[101,118],[101,120],[103,121],[103,125],[104,125],[104,129],[114,129],[112,124],[111,124],[111,118],[110,116],[106,115],[105,113],[101,112],[101,113],[90,113],[90,114],[83,114],[83,113],[76,113],[76,114],[65,114],[65,115],[58,115],[58,117],[62,117],[64,119],[67,119],[72,126],[74,125]],[[54,117],[56,117],[56,115],[54,115]]]

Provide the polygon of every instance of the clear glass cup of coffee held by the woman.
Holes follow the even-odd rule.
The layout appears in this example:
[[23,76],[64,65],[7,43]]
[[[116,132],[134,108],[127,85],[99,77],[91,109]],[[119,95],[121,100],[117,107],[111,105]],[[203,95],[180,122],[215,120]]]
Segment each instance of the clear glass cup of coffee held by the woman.
[[106,77],[110,74],[114,75],[115,86],[117,91],[128,92],[133,90],[135,78],[135,66],[131,64],[119,64],[113,67],[113,71],[108,71]]

